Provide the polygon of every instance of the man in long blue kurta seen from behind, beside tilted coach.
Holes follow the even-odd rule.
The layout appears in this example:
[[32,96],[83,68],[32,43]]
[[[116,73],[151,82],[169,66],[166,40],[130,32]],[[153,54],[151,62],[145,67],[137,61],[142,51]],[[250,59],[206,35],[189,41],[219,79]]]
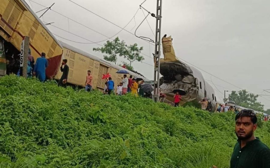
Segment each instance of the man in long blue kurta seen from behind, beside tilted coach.
[[41,57],[36,59],[36,64],[34,66],[34,73],[36,78],[39,78],[41,82],[44,82],[46,79],[45,70],[48,67],[48,60],[45,58],[46,54],[41,53]]

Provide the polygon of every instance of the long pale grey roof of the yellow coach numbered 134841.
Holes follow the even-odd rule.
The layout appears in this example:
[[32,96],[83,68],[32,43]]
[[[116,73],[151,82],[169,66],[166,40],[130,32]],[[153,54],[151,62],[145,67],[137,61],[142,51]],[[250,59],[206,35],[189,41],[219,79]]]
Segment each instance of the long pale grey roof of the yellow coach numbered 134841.
[[70,50],[72,50],[72,51],[74,51],[74,52],[77,52],[77,53],[79,53],[79,54],[81,54],[81,55],[84,55],[84,56],[86,56],[86,57],[88,57],[88,58],[91,58],[91,59],[93,59],[93,60],[96,60],[96,61],[98,61],[98,62],[102,62],[104,65],[107,65],[107,66],[109,66],[109,67],[113,67],[113,68],[118,69],[118,70],[124,69],[124,70],[126,70],[127,72],[129,72],[129,75],[132,75],[132,76],[134,76],[134,77],[140,77],[140,78],[143,78],[143,80],[146,80],[146,81],[149,80],[149,79],[147,79],[146,77],[143,77],[143,76],[141,76],[141,75],[139,75],[139,74],[137,74],[137,73],[134,73],[134,72],[132,72],[132,71],[130,71],[130,70],[128,70],[128,69],[125,69],[125,68],[123,68],[123,67],[120,67],[120,66],[118,66],[118,65],[115,65],[115,64],[113,64],[113,63],[110,63],[110,62],[108,62],[108,61],[106,61],[106,60],[104,60],[104,59],[101,59],[101,58],[99,58],[99,57],[97,57],[97,56],[95,56],[95,55],[93,55],[93,54],[91,54],[91,53],[88,53],[88,52],[86,52],[86,51],[83,51],[83,50],[81,50],[81,49],[79,49],[79,48],[73,47],[73,46],[71,46],[71,45],[69,45],[69,44],[67,44],[67,43],[65,43],[65,42],[63,42],[63,41],[60,41],[60,43],[61,43],[61,45],[62,45],[63,47],[65,47],[65,48],[67,48],[67,49],[70,49]]

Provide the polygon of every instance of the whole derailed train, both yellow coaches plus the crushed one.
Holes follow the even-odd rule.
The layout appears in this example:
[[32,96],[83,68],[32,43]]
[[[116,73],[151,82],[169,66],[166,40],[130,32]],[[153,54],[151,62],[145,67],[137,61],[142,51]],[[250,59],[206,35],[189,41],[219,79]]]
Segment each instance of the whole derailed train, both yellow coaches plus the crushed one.
[[[105,81],[101,78],[106,73],[110,73],[116,83],[122,79],[122,75],[116,74],[122,67],[58,41],[24,0],[1,0],[0,3],[0,75],[6,74],[6,65],[18,57],[25,36],[30,37],[29,47],[35,60],[40,53],[47,54],[47,78],[59,79],[61,60],[68,59],[70,84],[83,86],[87,70],[91,70],[94,76],[93,88],[103,89]],[[162,39],[164,59],[161,60],[160,70],[164,82],[160,87],[161,91],[167,94],[168,100],[173,101],[171,91],[182,88],[187,91],[187,95],[182,97],[181,105],[207,97],[215,107],[213,88],[204,80],[200,71],[177,60],[171,40],[171,37]],[[129,73],[147,80],[140,74]]]

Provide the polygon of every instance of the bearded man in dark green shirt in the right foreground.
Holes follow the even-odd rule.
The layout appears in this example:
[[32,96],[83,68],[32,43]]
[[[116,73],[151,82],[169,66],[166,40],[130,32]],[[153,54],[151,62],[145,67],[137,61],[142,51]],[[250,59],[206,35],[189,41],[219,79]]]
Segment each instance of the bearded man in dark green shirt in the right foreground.
[[235,134],[238,142],[232,153],[231,168],[270,167],[270,149],[254,136],[256,122],[257,117],[252,110],[242,110],[235,116]]

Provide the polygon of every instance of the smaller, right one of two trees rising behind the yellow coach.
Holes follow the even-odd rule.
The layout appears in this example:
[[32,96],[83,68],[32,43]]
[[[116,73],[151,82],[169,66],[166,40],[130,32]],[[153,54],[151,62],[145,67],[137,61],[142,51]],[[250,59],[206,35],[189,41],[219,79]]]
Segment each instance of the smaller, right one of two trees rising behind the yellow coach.
[[124,58],[129,61],[129,66],[131,66],[131,63],[134,61],[141,62],[144,60],[143,56],[140,55],[141,51],[143,51],[143,47],[138,47],[137,43],[127,46]]

